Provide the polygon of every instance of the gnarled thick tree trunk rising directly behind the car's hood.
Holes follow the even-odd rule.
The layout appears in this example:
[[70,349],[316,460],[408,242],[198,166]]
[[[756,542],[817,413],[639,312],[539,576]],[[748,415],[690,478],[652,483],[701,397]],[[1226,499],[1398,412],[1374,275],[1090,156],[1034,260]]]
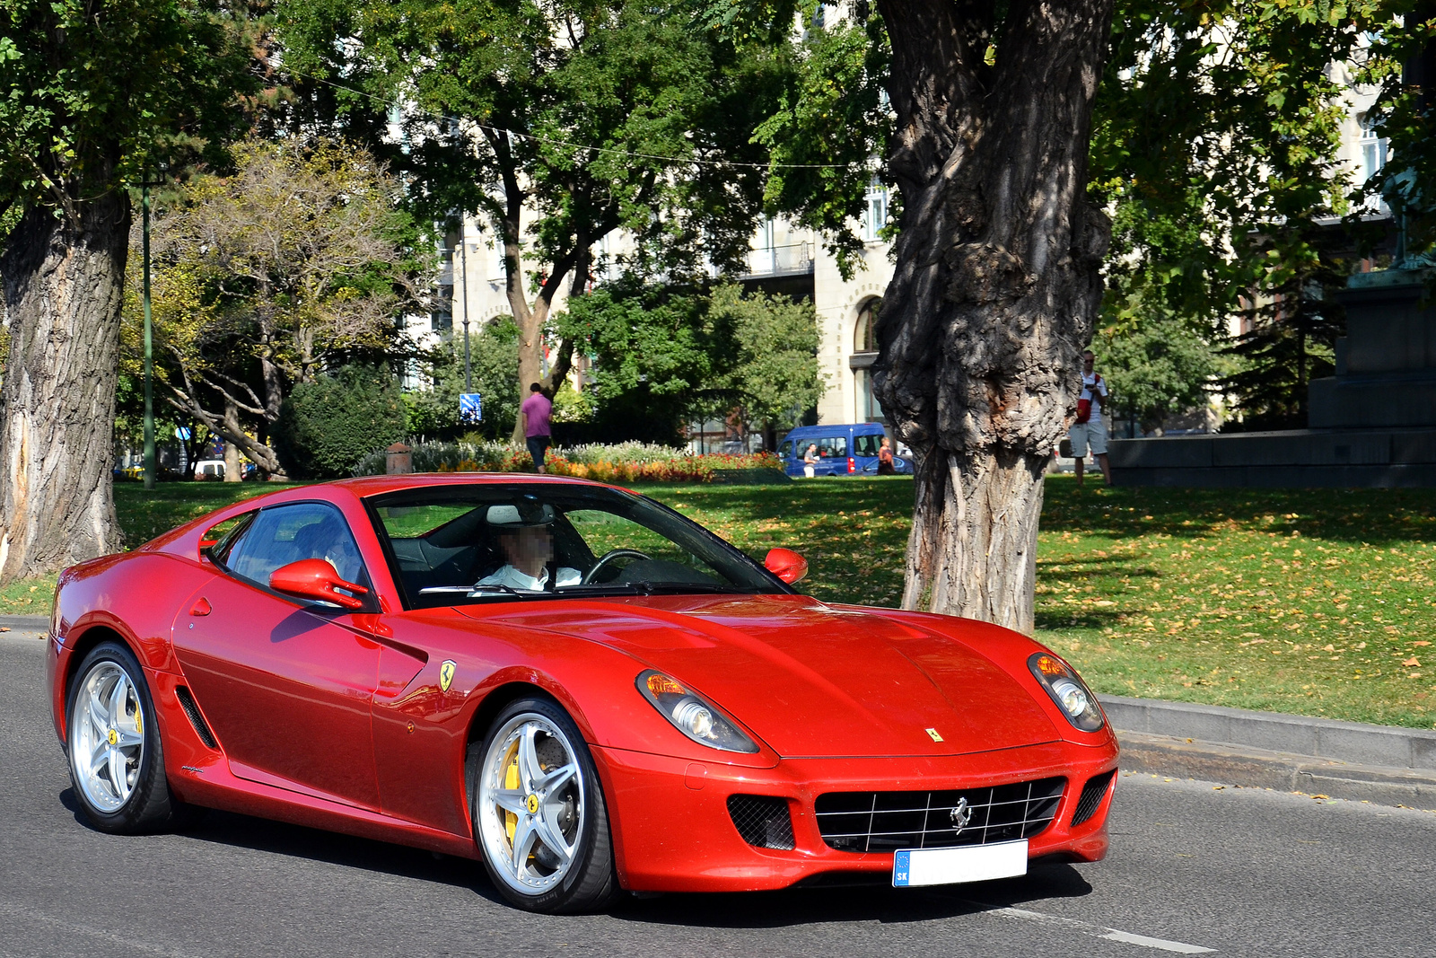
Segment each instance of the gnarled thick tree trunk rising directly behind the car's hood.
[[[903,606],[1032,631],[1043,475],[1110,225],[1086,204],[1110,0],[880,0],[903,198],[875,392],[916,454]],[[989,45],[994,63],[988,65]]]

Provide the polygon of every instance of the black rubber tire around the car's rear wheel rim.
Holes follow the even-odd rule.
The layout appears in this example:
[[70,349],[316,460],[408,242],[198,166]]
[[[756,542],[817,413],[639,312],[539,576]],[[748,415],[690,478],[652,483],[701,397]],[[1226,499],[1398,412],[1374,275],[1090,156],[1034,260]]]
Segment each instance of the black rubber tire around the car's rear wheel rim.
[[[83,760],[78,754],[79,745],[86,735],[92,735],[98,728],[76,727],[76,697],[92,678],[101,679],[119,675],[129,684],[132,694],[123,695],[123,710],[134,707],[135,725],[141,738],[138,761],[134,770],[125,776],[129,783],[128,794],[119,796],[118,790],[111,803],[102,803],[92,796],[102,790],[103,783],[83,781],[85,773],[79,767]],[[113,685],[111,685],[113,688]],[[70,784],[75,790],[75,800],[79,803],[85,817],[101,832],[112,834],[142,834],[148,832],[171,830],[190,824],[198,817],[198,810],[181,803],[169,793],[169,781],[165,778],[164,743],[159,738],[159,722],[155,718],[155,704],[149,697],[149,685],[145,682],[145,672],[125,645],[119,642],[102,642],[96,645],[80,666],[75,669],[75,676],[65,695],[66,715],[66,766],[70,771]],[[113,741],[113,740],[112,740]],[[126,760],[128,763],[129,760]],[[106,766],[108,768],[108,766]],[[113,789],[112,789],[113,790]],[[118,804],[115,804],[118,801]]]

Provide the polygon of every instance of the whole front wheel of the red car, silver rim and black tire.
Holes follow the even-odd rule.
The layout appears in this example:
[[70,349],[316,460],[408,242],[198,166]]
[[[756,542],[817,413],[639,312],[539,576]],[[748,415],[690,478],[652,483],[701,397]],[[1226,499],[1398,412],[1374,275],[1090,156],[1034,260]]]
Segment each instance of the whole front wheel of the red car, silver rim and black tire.
[[526,698],[468,753],[474,836],[500,893],[534,912],[587,912],[619,893],[593,757],[556,702]]

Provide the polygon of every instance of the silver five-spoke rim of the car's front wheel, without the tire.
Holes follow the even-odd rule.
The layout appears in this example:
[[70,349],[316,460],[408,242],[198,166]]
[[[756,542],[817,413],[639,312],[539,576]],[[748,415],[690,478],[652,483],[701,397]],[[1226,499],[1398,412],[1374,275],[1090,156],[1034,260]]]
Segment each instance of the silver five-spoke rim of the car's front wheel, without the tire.
[[541,895],[573,868],[583,787],[573,744],[544,715],[514,715],[490,737],[475,817],[484,855],[516,892]]

